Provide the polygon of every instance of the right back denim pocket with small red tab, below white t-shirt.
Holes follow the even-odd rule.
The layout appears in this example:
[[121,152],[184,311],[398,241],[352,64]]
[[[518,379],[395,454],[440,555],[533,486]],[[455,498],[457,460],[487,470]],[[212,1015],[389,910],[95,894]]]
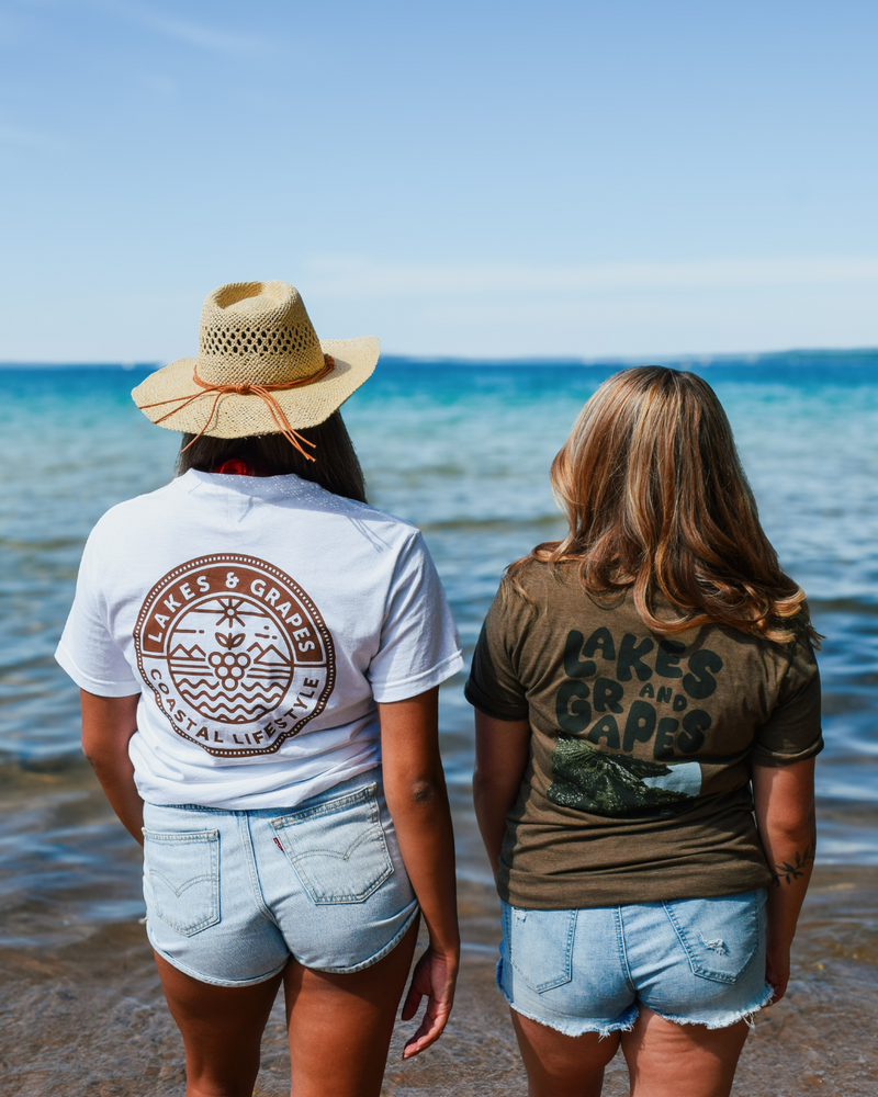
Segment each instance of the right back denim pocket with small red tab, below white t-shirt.
[[374,784],[271,825],[314,903],[362,903],[393,874]]

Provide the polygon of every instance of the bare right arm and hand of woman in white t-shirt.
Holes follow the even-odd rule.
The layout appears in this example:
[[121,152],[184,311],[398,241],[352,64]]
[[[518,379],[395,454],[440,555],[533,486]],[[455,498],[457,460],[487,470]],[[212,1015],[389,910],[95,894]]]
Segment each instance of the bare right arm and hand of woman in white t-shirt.
[[403,1020],[415,1016],[425,995],[427,1011],[405,1045],[404,1059],[429,1048],[442,1034],[460,963],[454,835],[439,757],[438,698],[436,688],[378,706],[384,795],[430,935],[429,948],[412,976]]

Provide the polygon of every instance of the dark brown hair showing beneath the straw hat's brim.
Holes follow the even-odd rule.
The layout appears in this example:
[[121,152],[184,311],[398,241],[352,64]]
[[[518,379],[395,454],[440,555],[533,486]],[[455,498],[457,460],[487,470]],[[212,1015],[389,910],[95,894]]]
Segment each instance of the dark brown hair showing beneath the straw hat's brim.
[[283,434],[250,434],[247,438],[183,434],[177,475],[182,476],[190,468],[209,473],[224,461],[237,457],[259,476],[295,473],[334,495],[365,502],[363,471],[340,412],[334,411],[324,422],[304,427],[299,433],[314,442],[316,448],[309,450],[315,455],[314,461],[303,457]]

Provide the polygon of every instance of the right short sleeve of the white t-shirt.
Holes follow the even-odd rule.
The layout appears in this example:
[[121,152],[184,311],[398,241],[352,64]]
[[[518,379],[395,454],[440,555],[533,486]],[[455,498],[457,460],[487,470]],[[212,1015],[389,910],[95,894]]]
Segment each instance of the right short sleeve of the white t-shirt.
[[369,664],[379,703],[417,697],[463,668],[446,592],[416,533],[396,562],[379,649]]

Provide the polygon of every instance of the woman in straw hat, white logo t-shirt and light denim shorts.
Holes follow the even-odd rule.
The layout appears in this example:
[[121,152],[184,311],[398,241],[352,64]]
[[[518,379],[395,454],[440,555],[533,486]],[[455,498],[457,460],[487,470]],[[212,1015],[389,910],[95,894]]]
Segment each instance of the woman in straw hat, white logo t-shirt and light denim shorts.
[[378,357],[319,342],[286,283],[212,293],[198,357],[133,393],[183,432],[179,475],[98,523],[58,647],[144,845],[189,1097],[249,1097],[281,984],[293,1092],[376,1095],[419,911],[406,1058],[451,1009],[437,692],[462,663],[420,534],[367,506],[338,412]]

